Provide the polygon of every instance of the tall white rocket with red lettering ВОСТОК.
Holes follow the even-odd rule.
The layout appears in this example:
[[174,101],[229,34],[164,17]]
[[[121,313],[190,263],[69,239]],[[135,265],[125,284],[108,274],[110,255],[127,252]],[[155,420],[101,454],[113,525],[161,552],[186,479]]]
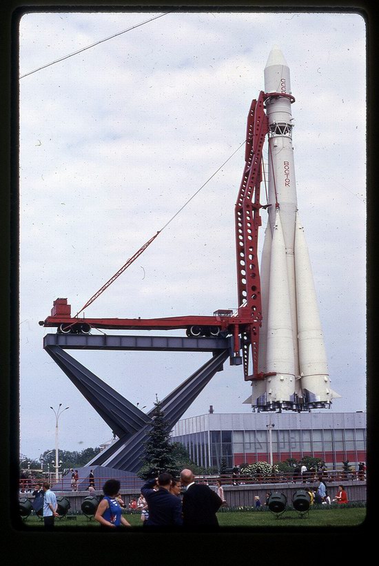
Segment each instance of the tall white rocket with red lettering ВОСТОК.
[[[259,371],[249,402],[259,410],[328,408],[331,389],[311,264],[298,217],[291,84],[283,53],[265,66],[269,124],[269,222],[260,264],[263,324]],[[276,96],[275,96],[276,93]],[[279,94],[279,96],[278,96]]]

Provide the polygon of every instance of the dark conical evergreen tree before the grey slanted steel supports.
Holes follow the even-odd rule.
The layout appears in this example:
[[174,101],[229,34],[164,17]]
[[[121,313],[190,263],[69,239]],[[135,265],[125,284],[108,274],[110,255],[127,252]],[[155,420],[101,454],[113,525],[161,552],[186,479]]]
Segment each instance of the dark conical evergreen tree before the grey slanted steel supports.
[[163,471],[177,476],[179,471],[170,443],[170,423],[165,420],[165,413],[158,398],[154,406],[152,429],[147,433],[143,464],[137,474],[143,480],[156,478]]

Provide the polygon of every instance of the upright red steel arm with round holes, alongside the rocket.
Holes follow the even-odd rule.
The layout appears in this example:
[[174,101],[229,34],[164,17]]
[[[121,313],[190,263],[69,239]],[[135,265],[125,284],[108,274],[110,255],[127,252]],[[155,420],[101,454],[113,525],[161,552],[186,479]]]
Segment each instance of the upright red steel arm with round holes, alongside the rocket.
[[[245,380],[258,375],[259,329],[262,301],[258,267],[258,228],[260,217],[260,182],[262,156],[268,120],[263,103],[264,92],[252,101],[247,117],[245,168],[235,206],[238,314],[250,322],[241,331]],[[249,350],[252,349],[254,375],[249,376]]]

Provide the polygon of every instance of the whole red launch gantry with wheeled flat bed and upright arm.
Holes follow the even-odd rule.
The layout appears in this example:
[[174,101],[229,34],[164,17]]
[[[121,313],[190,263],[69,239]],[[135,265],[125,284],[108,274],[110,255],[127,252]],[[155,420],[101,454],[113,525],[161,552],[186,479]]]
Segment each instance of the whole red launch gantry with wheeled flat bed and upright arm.
[[[213,316],[179,316],[170,318],[79,318],[81,313],[107,286],[109,286],[136,257],[156,238],[154,235],[134,256],[83,306],[74,317],[67,299],[57,299],[51,315],[41,326],[55,326],[59,333],[88,334],[92,327],[114,330],[172,330],[186,329],[187,336],[232,335],[234,354],[231,363],[243,362],[245,380],[260,380],[265,374],[258,371],[259,331],[262,324],[262,305],[260,295],[260,275],[258,267],[258,228],[261,225],[260,183],[262,181],[262,156],[268,121],[264,102],[267,97],[286,96],[271,92],[260,92],[258,99],[252,101],[247,118],[245,147],[245,168],[235,206],[236,222],[236,262],[238,284],[238,309],[218,310]],[[242,352],[242,354],[241,354]],[[252,357],[252,374],[249,375],[249,357]]]

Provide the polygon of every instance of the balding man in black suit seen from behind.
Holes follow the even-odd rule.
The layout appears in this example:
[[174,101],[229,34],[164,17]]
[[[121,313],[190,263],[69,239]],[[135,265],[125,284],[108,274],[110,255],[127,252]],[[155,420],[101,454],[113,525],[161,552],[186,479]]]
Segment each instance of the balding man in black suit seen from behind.
[[183,495],[184,527],[218,528],[216,511],[223,504],[215,491],[205,484],[196,484],[190,469],[183,469],[181,482],[187,489]]

